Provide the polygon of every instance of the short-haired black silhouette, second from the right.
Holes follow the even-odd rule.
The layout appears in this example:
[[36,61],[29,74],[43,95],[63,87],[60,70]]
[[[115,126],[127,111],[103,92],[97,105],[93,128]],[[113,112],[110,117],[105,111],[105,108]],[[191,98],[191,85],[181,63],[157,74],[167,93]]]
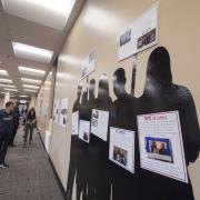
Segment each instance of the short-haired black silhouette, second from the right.
[[[117,100],[113,102],[113,114],[111,126],[127,130],[137,131],[137,98],[130,96],[126,91],[126,71],[119,68],[113,73],[113,91]],[[136,134],[136,163],[139,164],[138,137]],[[136,164],[136,172],[138,166]],[[124,170],[123,168],[112,164],[112,199],[113,200],[131,200],[138,199],[138,178],[137,173]]]

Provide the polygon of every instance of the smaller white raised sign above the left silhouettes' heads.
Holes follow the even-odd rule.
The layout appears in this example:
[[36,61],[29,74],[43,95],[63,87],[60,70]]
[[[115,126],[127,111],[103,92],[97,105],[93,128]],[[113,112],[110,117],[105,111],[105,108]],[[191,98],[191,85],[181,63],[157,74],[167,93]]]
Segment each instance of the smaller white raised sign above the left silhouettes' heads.
[[90,54],[82,62],[82,74],[81,78],[84,79],[96,69],[96,60],[94,52],[90,52]]

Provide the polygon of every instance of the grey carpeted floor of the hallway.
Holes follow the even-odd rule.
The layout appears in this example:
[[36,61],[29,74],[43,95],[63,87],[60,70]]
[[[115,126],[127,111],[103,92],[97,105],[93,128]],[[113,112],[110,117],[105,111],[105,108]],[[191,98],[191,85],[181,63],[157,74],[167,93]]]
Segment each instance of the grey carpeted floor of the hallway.
[[8,150],[9,169],[0,169],[0,200],[63,200],[39,134],[22,148],[22,132]]

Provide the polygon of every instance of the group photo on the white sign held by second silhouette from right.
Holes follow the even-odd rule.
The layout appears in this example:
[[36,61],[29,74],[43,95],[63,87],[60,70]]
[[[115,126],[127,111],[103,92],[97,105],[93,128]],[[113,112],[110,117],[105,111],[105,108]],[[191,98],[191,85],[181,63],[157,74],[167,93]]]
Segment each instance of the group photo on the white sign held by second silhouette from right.
[[124,149],[113,146],[113,160],[127,167],[128,152]]

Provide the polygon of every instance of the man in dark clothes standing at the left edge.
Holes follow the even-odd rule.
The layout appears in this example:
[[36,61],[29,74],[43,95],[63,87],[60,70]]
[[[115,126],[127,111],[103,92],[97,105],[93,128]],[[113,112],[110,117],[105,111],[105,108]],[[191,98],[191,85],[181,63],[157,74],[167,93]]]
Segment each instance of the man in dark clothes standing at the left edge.
[[0,110],[0,168],[8,168],[4,163],[8,144],[13,129],[13,102],[8,101],[6,109]]

